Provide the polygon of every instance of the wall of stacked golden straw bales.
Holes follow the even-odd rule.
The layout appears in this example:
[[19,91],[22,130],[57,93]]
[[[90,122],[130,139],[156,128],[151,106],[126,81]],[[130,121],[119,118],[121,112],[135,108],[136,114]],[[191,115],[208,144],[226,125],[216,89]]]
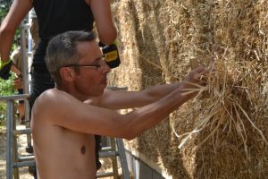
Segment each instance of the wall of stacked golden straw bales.
[[267,177],[267,12],[264,0],[113,1],[121,67],[112,85],[181,81],[191,61],[214,59],[198,97],[129,145],[173,178]]

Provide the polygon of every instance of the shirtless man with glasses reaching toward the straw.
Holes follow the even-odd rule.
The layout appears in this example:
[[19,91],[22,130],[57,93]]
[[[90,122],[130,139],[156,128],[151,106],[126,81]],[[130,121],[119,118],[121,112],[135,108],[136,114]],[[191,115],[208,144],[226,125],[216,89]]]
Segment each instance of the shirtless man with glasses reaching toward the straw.
[[[32,110],[38,179],[95,179],[94,134],[135,138],[195,97],[182,90],[203,84],[198,79],[207,72],[198,67],[181,83],[113,91],[105,89],[110,68],[92,33],[65,32],[50,41],[46,52],[56,88],[42,93]],[[116,112],[132,107],[139,108],[126,115]]]

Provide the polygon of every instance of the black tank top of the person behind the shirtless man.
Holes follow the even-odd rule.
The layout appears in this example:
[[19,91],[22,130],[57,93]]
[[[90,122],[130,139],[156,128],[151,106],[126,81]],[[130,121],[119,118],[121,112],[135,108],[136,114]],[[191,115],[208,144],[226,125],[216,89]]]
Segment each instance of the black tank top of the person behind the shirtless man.
[[34,0],[38,16],[39,38],[33,64],[44,65],[48,40],[68,30],[93,29],[94,17],[85,0]]

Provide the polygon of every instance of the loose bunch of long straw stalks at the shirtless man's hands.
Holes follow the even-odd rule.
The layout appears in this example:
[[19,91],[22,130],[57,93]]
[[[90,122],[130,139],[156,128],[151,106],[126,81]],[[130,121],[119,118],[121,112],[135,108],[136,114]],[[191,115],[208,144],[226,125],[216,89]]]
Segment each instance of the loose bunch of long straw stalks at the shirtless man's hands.
[[[198,92],[196,98],[202,100],[204,108],[199,115],[200,119],[192,132],[179,135],[173,130],[178,138],[183,138],[179,145],[179,149],[191,138],[192,134],[208,128],[210,133],[198,144],[201,146],[209,138],[212,138],[221,126],[223,131],[227,132],[227,135],[239,136],[244,143],[245,153],[247,154],[247,157],[249,157],[245,120],[260,134],[265,144],[268,144],[267,140],[264,137],[264,133],[256,127],[253,120],[247,114],[247,109],[243,107],[243,101],[239,98],[239,96],[243,95],[238,94],[237,91],[247,90],[247,88],[238,86],[238,84],[232,81],[234,78],[231,77],[231,75],[234,75],[235,73],[232,72],[234,69],[230,69],[229,66],[233,67],[235,65],[227,64],[220,59],[217,59],[214,64],[214,71],[209,72],[205,77],[207,81],[205,87],[198,86],[199,89],[187,90],[187,93]],[[233,132],[236,133],[234,134]]]

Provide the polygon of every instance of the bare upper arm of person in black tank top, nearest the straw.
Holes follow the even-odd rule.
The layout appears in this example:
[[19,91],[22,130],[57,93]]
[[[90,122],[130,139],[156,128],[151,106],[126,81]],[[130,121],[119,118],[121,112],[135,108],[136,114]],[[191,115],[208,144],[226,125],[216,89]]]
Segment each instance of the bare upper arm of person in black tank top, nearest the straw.
[[117,38],[113,24],[110,0],[90,0],[91,11],[96,21],[98,38],[105,45],[110,45]]

